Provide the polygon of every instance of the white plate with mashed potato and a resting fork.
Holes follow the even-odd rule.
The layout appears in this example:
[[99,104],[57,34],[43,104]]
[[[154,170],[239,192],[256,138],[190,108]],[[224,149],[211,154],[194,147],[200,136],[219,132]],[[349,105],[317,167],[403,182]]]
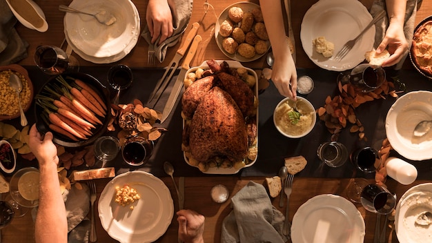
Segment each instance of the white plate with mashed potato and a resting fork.
[[375,26],[364,33],[342,61],[326,58],[316,52],[312,41],[317,37],[325,37],[335,44],[336,55],[346,41],[360,34],[371,20],[371,14],[360,1],[320,0],[304,14],[300,30],[303,49],[317,66],[326,70],[343,71],[354,68],[364,61],[364,54],[373,49]]

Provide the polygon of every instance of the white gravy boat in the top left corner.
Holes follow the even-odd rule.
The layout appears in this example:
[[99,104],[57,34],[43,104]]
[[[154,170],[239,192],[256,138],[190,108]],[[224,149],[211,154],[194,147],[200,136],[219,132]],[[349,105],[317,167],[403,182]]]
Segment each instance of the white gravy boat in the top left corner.
[[32,0],[6,0],[18,21],[29,29],[39,32],[48,30],[48,23],[41,8]]

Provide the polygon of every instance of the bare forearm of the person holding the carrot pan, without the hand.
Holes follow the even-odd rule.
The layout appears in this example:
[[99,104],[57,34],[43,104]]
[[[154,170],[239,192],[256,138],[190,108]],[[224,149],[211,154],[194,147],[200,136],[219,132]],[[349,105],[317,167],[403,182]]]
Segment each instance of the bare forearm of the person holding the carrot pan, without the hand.
[[55,163],[39,163],[39,208],[36,216],[36,242],[67,242],[66,208],[60,193]]

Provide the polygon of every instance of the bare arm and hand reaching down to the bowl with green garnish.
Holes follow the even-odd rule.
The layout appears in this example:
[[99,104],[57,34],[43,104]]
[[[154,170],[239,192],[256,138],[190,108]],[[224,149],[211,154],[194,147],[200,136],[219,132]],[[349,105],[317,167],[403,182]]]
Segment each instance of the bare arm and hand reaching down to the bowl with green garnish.
[[297,70],[295,70],[290,45],[285,34],[281,1],[260,0],[259,5],[275,57],[271,80],[281,95],[295,99],[297,96]]

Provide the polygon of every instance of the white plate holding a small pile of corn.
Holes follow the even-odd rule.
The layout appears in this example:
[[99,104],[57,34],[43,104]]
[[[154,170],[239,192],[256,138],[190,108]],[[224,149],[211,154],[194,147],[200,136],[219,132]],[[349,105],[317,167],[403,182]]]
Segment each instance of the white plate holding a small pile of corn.
[[[134,208],[115,202],[116,186],[128,184],[140,199]],[[174,215],[173,198],[159,178],[144,171],[131,171],[114,177],[106,184],[98,203],[101,224],[120,242],[154,242],[166,232]]]

